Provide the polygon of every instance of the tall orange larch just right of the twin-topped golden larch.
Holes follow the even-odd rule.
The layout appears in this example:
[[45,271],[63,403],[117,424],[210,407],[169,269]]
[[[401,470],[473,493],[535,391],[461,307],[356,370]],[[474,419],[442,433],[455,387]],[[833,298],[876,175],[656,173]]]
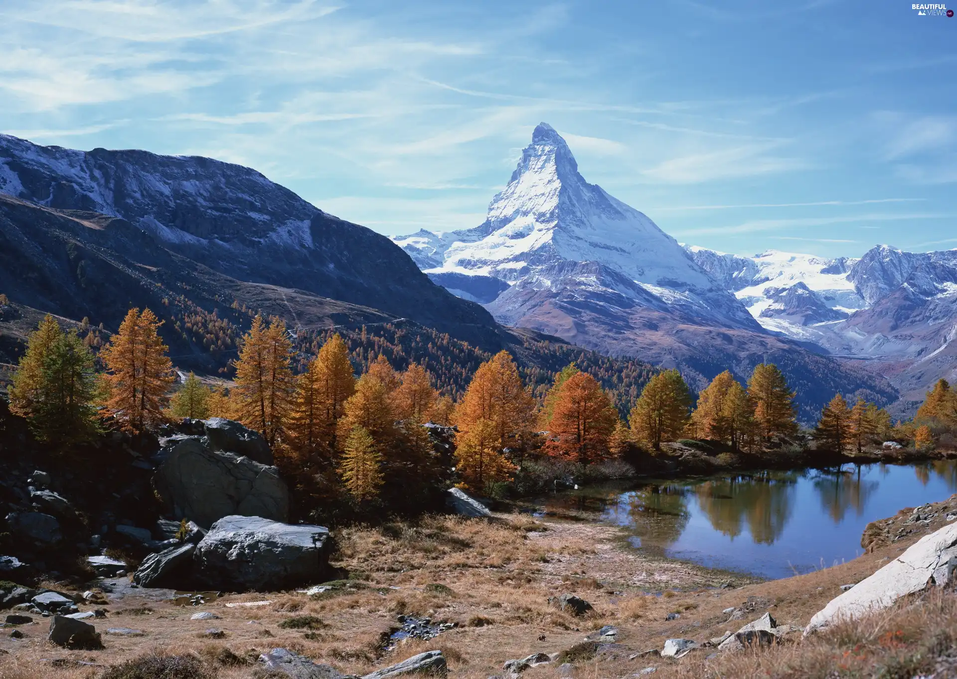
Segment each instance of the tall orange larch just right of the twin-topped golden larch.
[[336,449],[336,426],[345,413],[345,401],[355,392],[355,382],[345,341],[333,335],[297,379],[287,429],[300,455],[315,457]]

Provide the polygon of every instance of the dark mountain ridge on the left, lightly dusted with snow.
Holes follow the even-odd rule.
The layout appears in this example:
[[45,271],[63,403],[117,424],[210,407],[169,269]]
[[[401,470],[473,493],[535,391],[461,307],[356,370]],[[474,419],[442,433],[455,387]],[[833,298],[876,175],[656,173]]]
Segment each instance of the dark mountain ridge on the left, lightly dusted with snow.
[[[464,340],[493,340],[488,328],[494,322],[484,309],[434,285],[388,238],[326,214],[248,167],[136,150],[84,152],[0,135],[0,194],[59,210],[68,219],[73,213],[63,210],[105,215],[93,221],[77,217],[74,224],[85,219],[86,225],[101,226],[74,231],[91,236],[90,230],[100,230],[94,239],[100,249],[112,251],[115,245],[114,252],[143,259],[155,274],[175,261],[184,272],[191,268],[202,275],[295,289],[412,318]],[[2,237],[16,241],[15,249],[3,254],[17,259],[17,253],[29,252],[32,262],[28,269],[21,261],[17,274],[0,273],[5,292],[75,304],[76,285],[33,290],[30,276],[49,278],[70,257],[31,245],[30,219],[24,221],[29,206],[4,201],[2,209],[9,215]],[[46,222],[54,213],[32,214]],[[11,230],[12,222],[19,224],[19,235]],[[77,266],[70,264],[71,275],[80,276]],[[91,274],[85,276],[90,285],[103,280],[106,287],[100,272]],[[134,267],[124,275],[146,274]]]

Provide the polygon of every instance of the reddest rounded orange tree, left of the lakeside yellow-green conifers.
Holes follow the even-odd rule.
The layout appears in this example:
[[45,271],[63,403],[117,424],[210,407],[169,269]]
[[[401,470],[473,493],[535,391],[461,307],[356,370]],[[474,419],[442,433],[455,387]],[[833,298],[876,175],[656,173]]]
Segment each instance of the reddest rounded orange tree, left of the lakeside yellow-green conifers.
[[601,384],[588,373],[576,372],[556,395],[545,450],[587,465],[608,456],[618,422],[618,411]]

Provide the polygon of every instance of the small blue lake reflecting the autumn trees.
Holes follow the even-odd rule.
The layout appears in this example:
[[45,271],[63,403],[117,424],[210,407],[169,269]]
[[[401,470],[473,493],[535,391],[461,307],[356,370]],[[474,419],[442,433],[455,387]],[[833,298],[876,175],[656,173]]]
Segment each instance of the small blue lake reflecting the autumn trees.
[[870,521],[957,491],[957,461],[605,485],[559,493],[545,511],[591,510],[643,550],[786,578],[854,559]]

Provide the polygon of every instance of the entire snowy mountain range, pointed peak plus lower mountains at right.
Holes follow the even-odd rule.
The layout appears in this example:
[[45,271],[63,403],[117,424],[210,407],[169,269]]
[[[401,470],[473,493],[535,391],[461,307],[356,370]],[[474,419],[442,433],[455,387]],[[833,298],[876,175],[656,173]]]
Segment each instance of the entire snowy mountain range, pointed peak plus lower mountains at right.
[[[483,224],[393,241],[435,282],[503,323],[676,365],[698,388],[724,369],[745,378],[755,363],[777,362],[806,420],[836,391],[913,410],[921,390],[953,370],[946,349],[929,354],[954,333],[947,285],[957,256],[877,248],[832,260],[683,247],[589,184],[545,123]],[[920,348],[908,351],[913,340],[903,338],[918,327]]]

